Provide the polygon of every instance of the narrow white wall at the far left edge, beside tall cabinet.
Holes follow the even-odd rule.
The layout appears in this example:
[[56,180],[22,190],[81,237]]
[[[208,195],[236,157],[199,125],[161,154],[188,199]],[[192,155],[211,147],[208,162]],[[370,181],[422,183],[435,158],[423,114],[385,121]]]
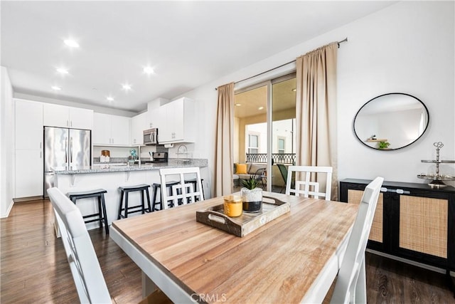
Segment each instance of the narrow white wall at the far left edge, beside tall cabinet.
[[14,103],[9,75],[1,67],[0,103],[0,217],[6,217],[13,206],[14,194]]

